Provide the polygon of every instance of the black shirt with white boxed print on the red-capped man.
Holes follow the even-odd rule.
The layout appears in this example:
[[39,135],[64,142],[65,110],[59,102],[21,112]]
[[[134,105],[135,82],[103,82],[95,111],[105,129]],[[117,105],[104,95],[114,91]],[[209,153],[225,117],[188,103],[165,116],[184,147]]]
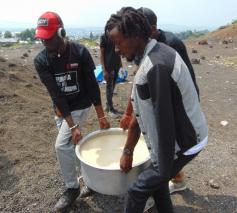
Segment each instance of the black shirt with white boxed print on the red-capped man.
[[101,104],[100,90],[94,75],[95,65],[83,45],[68,43],[65,53],[60,57],[44,49],[35,57],[34,64],[63,117],[91,104]]

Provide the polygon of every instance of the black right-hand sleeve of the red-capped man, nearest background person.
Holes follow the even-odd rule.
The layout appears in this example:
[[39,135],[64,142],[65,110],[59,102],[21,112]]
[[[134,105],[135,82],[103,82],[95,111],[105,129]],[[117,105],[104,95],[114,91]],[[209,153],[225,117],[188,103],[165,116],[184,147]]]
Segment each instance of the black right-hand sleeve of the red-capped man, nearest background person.
[[100,88],[94,74],[95,64],[86,48],[81,49],[82,52],[82,72],[85,77],[86,90],[90,96],[94,106],[101,105]]

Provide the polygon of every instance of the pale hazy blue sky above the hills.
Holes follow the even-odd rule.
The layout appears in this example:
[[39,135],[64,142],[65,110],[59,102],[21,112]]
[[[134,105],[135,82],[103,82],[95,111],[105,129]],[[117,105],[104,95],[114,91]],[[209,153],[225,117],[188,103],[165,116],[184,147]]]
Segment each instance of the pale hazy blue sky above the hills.
[[65,27],[103,27],[123,6],[148,7],[158,24],[219,27],[237,19],[237,0],[6,0],[0,7],[0,23],[29,23],[35,27],[45,11],[55,11]]

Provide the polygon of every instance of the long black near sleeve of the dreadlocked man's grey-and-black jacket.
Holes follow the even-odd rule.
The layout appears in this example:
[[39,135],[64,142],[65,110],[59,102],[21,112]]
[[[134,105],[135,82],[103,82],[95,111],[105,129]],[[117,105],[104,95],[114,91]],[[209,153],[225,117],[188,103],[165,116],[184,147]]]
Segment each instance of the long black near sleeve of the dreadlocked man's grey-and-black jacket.
[[175,152],[175,122],[169,68],[156,65],[147,74],[158,135],[158,170],[160,181],[171,176]]

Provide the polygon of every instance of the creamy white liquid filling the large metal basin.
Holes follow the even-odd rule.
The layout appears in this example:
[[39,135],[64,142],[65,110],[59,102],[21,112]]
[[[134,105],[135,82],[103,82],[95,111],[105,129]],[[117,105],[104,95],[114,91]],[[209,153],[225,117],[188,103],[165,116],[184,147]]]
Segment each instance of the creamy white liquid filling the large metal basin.
[[[80,148],[80,155],[87,164],[105,169],[119,169],[120,157],[127,135],[100,135],[86,141]],[[143,137],[140,137],[134,153],[133,165],[149,158],[149,151]]]

